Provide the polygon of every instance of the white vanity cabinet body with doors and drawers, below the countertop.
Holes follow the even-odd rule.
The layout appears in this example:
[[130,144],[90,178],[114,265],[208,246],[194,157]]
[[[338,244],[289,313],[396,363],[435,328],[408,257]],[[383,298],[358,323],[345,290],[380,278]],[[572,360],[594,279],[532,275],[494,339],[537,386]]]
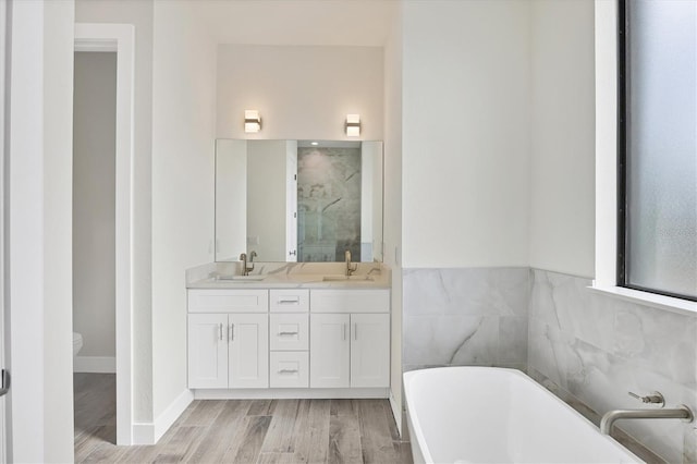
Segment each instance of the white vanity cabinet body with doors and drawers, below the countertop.
[[389,310],[387,289],[189,290],[188,388],[387,394]]

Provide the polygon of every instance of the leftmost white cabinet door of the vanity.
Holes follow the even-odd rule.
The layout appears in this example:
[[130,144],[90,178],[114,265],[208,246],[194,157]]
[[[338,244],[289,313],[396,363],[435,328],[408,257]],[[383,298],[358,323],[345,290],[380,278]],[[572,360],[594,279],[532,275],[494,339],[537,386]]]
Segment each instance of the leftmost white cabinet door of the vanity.
[[188,388],[228,388],[228,315],[188,315]]

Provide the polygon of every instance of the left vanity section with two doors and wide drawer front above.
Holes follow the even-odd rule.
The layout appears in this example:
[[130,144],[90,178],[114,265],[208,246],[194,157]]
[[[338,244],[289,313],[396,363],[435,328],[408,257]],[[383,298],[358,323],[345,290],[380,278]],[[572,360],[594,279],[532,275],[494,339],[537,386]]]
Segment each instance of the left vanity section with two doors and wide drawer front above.
[[188,292],[188,388],[269,387],[268,291],[261,292]]

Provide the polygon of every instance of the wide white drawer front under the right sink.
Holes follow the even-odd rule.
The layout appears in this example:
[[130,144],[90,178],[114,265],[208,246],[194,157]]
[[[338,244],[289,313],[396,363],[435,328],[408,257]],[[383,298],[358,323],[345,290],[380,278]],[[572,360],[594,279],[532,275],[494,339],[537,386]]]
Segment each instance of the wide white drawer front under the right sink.
[[313,313],[389,313],[389,290],[313,290]]

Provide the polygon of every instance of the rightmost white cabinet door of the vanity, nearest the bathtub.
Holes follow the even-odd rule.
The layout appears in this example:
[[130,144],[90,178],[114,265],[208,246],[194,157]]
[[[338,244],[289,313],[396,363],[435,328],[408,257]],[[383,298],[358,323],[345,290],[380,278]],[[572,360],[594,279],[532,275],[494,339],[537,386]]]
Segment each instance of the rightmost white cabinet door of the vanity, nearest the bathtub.
[[390,315],[351,315],[351,387],[390,387]]

